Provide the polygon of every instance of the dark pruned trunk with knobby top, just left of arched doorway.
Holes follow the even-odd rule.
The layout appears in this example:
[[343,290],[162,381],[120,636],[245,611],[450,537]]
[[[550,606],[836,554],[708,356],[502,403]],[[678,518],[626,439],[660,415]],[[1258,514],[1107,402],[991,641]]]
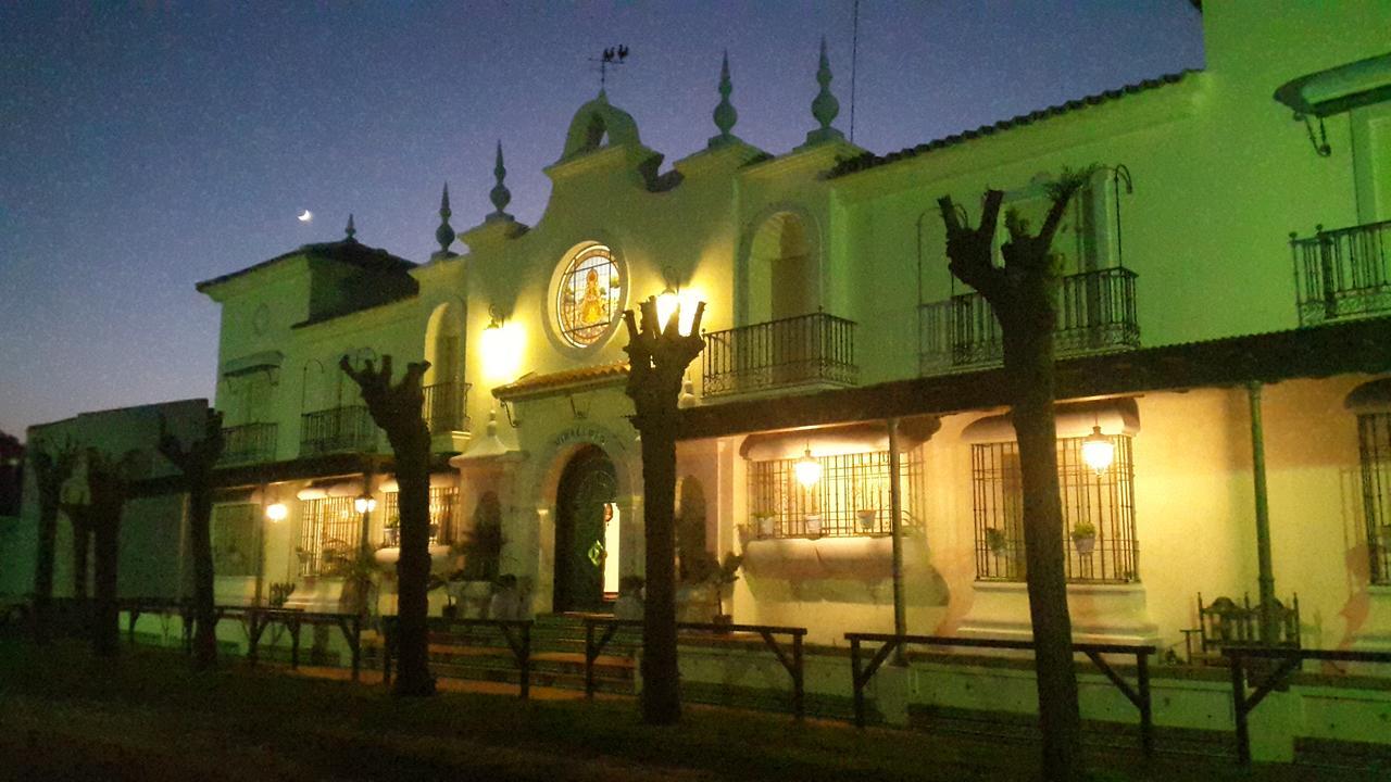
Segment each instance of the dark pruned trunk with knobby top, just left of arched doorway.
[[353,369],[346,356],[339,369],[362,388],[371,420],[387,433],[396,461],[396,502],[401,509],[401,558],[396,559],[398,696],[430,696],[430,427],[421,408],[421,378],[430,362],[406,366],[401,383],[391,384],[391,356]]

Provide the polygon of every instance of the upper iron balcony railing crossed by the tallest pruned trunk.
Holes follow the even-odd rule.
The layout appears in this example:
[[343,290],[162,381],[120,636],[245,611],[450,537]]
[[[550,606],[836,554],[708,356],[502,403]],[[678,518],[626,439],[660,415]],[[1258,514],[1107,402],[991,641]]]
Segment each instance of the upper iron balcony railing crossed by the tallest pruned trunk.
[[[1000,323],[981,294],[922,305],[918,312],[922,374],[999,365],[1004,358]],[[1135,273],[1100,269],[1063,277],[1059,284],[1057,358],[1128,351],[1139,346]]]

